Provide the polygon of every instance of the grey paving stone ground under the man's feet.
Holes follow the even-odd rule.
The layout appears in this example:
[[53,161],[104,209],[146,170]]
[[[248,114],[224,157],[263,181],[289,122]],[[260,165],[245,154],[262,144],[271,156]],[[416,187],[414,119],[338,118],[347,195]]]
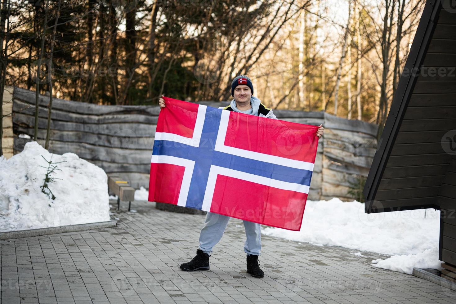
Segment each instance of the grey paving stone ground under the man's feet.
[[204,216],[146,202],[132,209],[115,215],[114,228],[0,241],[0,304],[456,303],[450,289],[372,267],[377,254],[360,258],[268,236],[260,256],[265,276],[252,278],[237,219],[214,248],[211,270],[184,272],[179,265],[195,256]]

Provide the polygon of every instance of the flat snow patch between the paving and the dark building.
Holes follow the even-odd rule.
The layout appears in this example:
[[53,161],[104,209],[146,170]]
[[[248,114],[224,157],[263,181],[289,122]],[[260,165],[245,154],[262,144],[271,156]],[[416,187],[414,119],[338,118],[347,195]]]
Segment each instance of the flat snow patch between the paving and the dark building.
[[307,201],[301,231],[268,227],[263,233],[390,255],[373,266],[411,274],[414,267],[440,269],[439,229],[440,211],[434,209],[366,214],[364,204],[333,198]]

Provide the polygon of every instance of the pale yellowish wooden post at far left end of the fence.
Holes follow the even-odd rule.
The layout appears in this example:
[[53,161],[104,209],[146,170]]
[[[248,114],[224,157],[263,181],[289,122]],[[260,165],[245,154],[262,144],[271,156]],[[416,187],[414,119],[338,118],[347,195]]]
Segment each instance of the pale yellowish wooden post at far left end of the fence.
[[6,158],[10,158],[13,156],[13,87],[5,87],[5,91],[3,91],[3,137],[2,141],[2,148],[3,148],[3,155]]

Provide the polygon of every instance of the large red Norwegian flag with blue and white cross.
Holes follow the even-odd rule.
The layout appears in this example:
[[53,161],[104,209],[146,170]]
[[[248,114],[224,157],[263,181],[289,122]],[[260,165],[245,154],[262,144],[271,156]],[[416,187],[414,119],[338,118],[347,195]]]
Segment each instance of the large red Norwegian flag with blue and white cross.
[[300,230],[317,126],[164,99],[149,201]]

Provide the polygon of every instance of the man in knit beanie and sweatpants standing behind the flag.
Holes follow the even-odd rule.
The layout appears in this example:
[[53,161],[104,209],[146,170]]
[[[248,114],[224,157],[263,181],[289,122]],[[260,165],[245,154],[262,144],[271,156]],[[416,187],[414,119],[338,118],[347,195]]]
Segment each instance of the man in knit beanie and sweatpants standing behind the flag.
[[[253,93],[254,88],[250,78],[245,75],[239,75],[231,82],[231,96],[234,99],[228,107],[221,107],[221,109],[277,119],[272,109],[266,108],[258,98],[252,96]],[[163,98],[160,98],[159,103],[160,108],[165,108],[165,100]],[[321,137],[324,128],[322,125],[319,125],[319,127],[316,136]],[[199,237],[197,255],[190,262],[183,263],[181,265],[182,270],[209,270],[209,257],[211,256],[212,248],[222,238],[229,219],[229,216],[207,212],[206,221]],[[261,251],[261,225],[245,220],[243,222],[247,237],[244,245],[244,252],[247,254],[247,273],[250,273],[255,278],[263,278],[264,273],[259,268],[258,261]]]

